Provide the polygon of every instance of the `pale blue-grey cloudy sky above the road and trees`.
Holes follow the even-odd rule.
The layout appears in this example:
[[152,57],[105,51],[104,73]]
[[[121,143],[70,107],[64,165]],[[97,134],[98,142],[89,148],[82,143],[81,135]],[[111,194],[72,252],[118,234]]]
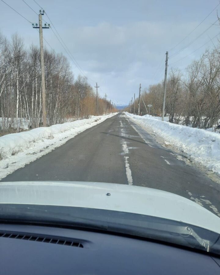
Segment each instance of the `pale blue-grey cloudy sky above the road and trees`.
[[[38,16],[22,0],[4,0],[29,21],[38,23]],[[25,0],[37,13],[39,6],[33,0]],[[139,85],[147,88],[164,78],[165,53],[178,52],[217,20],[217,10],[182,43],[214,8],[218,0],[36,0],[46,11],[58,33],[77,60],[89,83],[101,87],[99,94],[106,93],[117,105],[128,104],[139,91]],[[9,39],[15,32],[24,37],[25,46],[39,45],[39,35],[21,16],[0,1],[0,31]],[[43,19],[49,22],[46,15]],[[216,23],[217,24],[217,23]],[[213,25],[199,39],[174,57],[169,58],[171,67],[185,70],[206,48],[213,47],[210,38],[220,32]],[[43,31],[45,39],[56,53],[68,57],[53,32]],[[218,44],[217,36],[213,39]],[[209,42],[208,42],[209,41]],[[201,49],[178,61],[208,42]],[[44,44],[47,48],[49,46]],[[69,57],[68,57],[69,59]],[[75,64],[75,76],[80,71]],[[173,62],[178,61],[174,64]]]

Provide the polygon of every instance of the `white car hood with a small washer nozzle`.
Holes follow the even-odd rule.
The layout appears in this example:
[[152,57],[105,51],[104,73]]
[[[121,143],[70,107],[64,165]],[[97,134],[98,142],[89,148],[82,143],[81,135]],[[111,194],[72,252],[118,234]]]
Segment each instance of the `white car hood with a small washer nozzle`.
[[[110,196],[107,196],[110,193]],[[220,218],[173,193],[102,182],[3,182],[0,204],[87,207],[166,218],[220,234]]]

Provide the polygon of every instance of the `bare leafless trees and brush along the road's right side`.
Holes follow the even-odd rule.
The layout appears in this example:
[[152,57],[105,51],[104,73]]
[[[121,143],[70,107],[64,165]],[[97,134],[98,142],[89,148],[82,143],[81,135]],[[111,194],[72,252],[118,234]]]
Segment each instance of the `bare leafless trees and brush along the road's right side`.
[[[169,122],[182,123],[197,128],[218,126],[220,119],[220,51],[219,47],[206,50],[184,72],[171,68],[167,79],[165,114]],[[150,85],[142,91],[146,105],[152,104],[151,112],[161,116],[164,82]],[[138,99],[135,101],[138,113]],[[134,103],[127,109],[134,112]],[[146,114],[142,99],[140,112]]]

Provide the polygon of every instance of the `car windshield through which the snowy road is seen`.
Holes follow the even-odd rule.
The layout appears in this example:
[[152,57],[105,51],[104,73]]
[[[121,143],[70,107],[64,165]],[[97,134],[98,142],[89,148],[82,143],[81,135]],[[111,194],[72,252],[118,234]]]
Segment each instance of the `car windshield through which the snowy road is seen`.
[[220,254],[220,2],[0,6],[0,222]]

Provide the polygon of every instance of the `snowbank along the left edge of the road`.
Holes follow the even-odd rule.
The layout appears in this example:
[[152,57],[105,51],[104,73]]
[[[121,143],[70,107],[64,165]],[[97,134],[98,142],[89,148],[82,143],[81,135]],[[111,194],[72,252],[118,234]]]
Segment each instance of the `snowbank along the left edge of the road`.
[[92,116],[0,137],[0,179],[63,145],[82,131],[116,115]]

